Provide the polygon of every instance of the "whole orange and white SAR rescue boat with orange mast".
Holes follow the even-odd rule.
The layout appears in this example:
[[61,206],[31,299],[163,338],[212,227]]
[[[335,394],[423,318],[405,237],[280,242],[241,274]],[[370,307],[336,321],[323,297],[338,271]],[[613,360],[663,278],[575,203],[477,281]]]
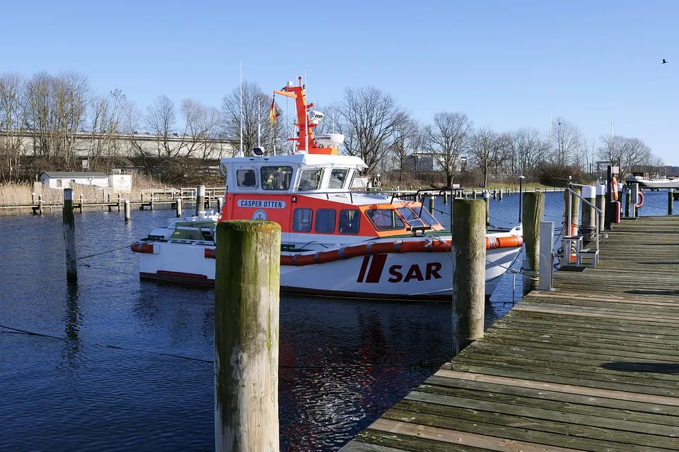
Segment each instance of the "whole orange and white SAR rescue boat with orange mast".
[[[291,155],[221,160],[226,178],[219,218],[169,220],[132,245],[141,278],[214,284],[216,222],[272,220],[282,228],[281,290],[352,298],[449,300],[451,235],[417,201],[354,192],[366,165],[339,155],[340,134],[315,135],[323,114],[306,104],[304,87],[289,83],[279,95],[296,100],[298,136]],[[486,295],[516,260],[521,227],[489,230]]]

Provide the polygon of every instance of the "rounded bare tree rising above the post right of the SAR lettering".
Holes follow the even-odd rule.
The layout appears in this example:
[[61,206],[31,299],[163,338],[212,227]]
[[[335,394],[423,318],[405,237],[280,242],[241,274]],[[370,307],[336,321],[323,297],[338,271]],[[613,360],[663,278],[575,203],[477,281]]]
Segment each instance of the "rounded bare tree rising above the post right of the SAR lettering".
[[440,112],[434,114],[434,125],[426,127],[424,145],[446,173],[446,186],[453,182],[460,153],[468,147],[472,126],[472,121],[464,113]]

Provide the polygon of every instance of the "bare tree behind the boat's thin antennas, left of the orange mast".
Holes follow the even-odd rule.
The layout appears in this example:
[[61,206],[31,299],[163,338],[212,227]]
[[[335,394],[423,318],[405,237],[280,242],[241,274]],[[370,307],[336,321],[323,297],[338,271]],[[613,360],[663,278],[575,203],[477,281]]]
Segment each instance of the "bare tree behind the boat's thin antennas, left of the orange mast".
[[[269,123],[269,109],[272,96],[265,94],[257,83],[243,81],[243,152],[257,145],[257,124],[260,124],[262,146],[267,154],[274,152],[274,146],[283,148],[285,131],[282,121]],[[281,109],[275,105],[277,116]],[[221,100],[221,129],[224,138],[240,146],[240,87],[233,89],[231,94]]]

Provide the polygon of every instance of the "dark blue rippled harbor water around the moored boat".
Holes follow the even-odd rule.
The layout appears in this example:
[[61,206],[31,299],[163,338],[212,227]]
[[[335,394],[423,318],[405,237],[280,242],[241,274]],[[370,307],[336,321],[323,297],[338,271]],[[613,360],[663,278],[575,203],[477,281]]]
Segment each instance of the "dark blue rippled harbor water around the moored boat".
[[[666,214],[666,191],[645,194],[641,215]],[[546,194],[557,229],[562,206],[561,192]],[[444,224],[448,208],[436,201]],[[518,195],[490,208],[493,225],[515,225]],[[128,248],[173,215],[76,214],[78,255],[98,255],[79,261],[72,286],[60,213],[0,217],[1,451],[214,448],[214,290],[140,281]],[[508,273],[486,303],[487,325],[511,308],[512,283]],[[337,450],[451,347],[449,303],[282,295],[281,450]]]

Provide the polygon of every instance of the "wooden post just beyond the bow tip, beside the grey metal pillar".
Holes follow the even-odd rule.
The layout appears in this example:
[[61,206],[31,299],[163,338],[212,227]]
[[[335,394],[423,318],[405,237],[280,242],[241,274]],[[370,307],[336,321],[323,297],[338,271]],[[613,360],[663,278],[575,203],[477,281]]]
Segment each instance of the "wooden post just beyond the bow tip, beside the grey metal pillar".
[[540,269],[540,222],[545,218],[545,194],[527,191],[523,195],[523,295],[538,288]]

